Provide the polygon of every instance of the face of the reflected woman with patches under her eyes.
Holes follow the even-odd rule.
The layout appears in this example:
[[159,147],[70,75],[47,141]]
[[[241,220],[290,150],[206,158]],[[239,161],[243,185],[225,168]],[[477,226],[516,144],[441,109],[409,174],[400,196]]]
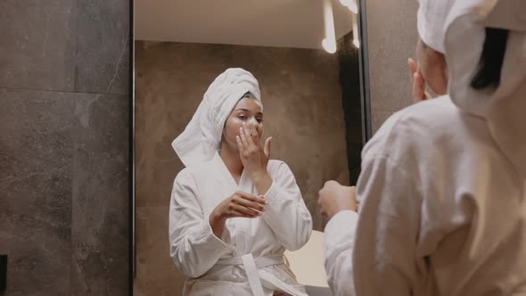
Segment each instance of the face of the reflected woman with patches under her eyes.
[[263,113],[257,100],[242,98],[226,119],[222,141],[234,150],[237,150],[235,136],[239,136],[239,128],[243,122],[247,127],[255,127],[259,138],[263,136]]

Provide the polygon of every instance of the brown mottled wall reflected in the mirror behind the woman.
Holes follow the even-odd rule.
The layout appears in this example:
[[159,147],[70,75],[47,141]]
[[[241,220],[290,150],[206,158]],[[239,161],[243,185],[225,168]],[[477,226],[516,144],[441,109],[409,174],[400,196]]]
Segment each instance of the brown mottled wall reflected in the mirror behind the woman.
[[291,167],[322,230],[317,191],[329,179],[349,184],[339,62],[314,49],[136,41],[136,295],[182,291],[185,277],[168,251],[170,192],[183,169],[171,142],[228,67],[259,79],[272,158]]

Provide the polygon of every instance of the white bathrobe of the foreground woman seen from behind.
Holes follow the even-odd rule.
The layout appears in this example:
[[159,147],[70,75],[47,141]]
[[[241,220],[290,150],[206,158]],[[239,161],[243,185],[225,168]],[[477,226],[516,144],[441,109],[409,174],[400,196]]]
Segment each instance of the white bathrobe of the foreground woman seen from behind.
[[325,228],[335,295],[526,295],[526,183],[502,144],[448,96],[391,116],[362,153],[359,217]]

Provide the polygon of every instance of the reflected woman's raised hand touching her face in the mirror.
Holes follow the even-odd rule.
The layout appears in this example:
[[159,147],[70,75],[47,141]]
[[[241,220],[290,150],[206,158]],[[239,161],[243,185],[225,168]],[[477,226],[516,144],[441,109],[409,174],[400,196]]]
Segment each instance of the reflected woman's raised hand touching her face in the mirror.
[[252,180],[265,176],[270,157],[270,141],[265,141],[265,148],[261,145],[258,129],[243,122],[239,129],[239,136],[235,137],[242,160],[243,168],[247,170]]

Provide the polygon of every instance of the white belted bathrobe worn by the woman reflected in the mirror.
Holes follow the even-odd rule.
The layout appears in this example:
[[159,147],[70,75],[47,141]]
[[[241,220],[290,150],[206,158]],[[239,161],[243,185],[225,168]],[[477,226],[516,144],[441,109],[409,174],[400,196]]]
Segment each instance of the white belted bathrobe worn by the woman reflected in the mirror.
[[308,242],[312,218],[289,167],[270,160],[267,169],[273,183],[265,193],[266,211],[259,218],[227,219],[221,239],[212,232],[210,212],[238,190],[257,195],[251,178],[243,172],[236,185],[218,153],[177,175],[169,243],[176,266],[191,277],[187,295],[305,295],[283,254]]

